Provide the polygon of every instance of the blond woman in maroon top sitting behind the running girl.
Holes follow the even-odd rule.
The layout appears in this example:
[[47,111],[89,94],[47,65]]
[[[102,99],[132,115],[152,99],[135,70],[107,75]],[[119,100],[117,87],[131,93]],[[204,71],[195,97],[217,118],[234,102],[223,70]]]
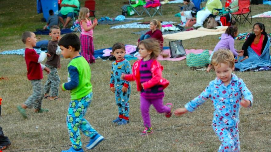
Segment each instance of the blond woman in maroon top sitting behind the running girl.
[[160,30],[161,29],[161,22],[159,22],[159,21],[157,21],[155,19],[151,20],[150,23],[149,23],[149,29],[150,29],[149,32],[146,32],[145,34],[142,34],[140,36],[140,38],[137,40],[137,46],[138,46],[138,43],[141,40],[145,40],[145,39],[148,39],[148,38],[154,38],[157,41],[159,41],[160,48],[161,48],[161,51],[162,51],[163,50],[163,44],[164,44],[164,38],[163,38],[163,35],[162,35],[162,31]]

